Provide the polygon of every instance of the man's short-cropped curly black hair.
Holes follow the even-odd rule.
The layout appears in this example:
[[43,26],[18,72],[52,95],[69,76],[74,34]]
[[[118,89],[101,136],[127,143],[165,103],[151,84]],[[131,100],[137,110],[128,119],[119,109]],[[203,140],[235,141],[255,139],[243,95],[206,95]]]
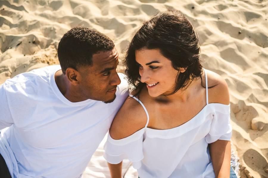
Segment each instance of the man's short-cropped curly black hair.
[[92,66],[92,55],[114,48],[106,35],[87,27],[75,27],[63,35],[58,46],[58,58],[63,74],[68,67]]

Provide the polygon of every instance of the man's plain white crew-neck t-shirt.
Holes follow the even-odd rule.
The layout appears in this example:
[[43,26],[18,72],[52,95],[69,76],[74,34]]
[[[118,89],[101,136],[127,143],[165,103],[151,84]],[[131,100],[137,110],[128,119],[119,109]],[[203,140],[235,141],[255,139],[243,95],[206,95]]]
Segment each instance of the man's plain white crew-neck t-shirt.
[[[0,154],[12,177],[82,177],[127,98],[119,74],[116,99],[71,102],[58,89],[59,65],[19,74],[0,85]],[[8,127],[8,128],[7,128]]]

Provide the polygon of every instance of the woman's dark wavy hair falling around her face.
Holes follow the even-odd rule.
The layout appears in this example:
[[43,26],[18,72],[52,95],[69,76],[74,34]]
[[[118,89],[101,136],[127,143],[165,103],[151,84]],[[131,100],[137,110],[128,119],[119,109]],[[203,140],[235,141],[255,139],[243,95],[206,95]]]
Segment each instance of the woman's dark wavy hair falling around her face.
[[130,42],[124,63],[128,80],[134,86],[135,96],[145,85],[141,82],[139,67],[135,60],[135,50],[141,49],[159,49],[161,54],[172,62],[174,69],[179,70],[179,67],[186,69],[183,73],[178,72],[174,91],[169,95],[180,89],[186,89],[195,77],[202,76],[197,33],[190,21],[177,10],[159,12],[144,22]]

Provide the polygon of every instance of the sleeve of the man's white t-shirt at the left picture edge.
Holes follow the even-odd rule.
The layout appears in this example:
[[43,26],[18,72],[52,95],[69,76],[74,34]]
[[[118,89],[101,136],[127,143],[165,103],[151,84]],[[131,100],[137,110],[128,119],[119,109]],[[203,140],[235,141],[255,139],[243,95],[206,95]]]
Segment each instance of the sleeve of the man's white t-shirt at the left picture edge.
[[5,83],[0,85],[0,130],[13,124],[5,91]]

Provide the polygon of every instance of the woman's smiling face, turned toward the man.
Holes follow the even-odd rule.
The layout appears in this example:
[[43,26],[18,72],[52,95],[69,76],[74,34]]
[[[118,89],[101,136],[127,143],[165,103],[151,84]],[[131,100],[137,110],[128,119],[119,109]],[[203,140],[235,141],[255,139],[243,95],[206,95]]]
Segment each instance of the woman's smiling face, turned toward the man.
[[135,51],[141,82],[146,83],[149,95],[157,97],[174,91],[178,70],[158,49]]

